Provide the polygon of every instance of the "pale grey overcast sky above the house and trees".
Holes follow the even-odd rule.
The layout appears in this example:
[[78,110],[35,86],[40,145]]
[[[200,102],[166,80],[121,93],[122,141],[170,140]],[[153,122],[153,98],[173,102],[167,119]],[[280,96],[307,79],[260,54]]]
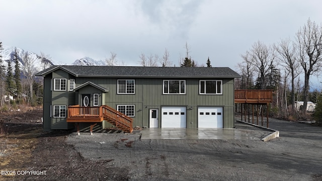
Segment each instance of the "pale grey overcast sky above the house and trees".
[[308,18],[322,22],[322,1],[0,0],[0,41],[67,64],[115,52],[129,66],[166,48],[179,66],[187,42],[199,65],[235,69],[254,42],[293,38]]

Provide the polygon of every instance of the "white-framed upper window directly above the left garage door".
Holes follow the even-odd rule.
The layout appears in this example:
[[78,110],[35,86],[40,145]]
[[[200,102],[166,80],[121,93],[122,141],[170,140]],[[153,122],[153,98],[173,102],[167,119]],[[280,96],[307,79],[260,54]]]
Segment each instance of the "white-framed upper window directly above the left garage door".
[[186,94],[186,80],[163,80],[163,94]]

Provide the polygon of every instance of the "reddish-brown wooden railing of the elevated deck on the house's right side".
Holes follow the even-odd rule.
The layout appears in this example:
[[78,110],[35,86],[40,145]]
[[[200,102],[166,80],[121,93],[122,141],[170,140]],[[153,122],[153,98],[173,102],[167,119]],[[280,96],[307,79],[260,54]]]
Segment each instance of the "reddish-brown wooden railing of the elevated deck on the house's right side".
[[273,90],[235,90],[235,103],[268,104],[272,98]]

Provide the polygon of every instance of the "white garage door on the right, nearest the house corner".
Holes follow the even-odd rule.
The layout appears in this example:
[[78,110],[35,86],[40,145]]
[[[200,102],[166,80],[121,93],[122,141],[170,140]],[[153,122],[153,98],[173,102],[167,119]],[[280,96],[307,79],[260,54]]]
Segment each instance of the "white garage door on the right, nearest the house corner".
[[198,108],[198,128],[223,128],[222,107]]

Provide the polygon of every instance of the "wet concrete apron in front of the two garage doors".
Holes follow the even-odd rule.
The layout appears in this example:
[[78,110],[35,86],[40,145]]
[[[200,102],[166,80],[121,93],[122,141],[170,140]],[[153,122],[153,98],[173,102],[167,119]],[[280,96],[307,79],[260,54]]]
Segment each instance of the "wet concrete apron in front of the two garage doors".
[[141,139],[222,139],[261,140],[272,132],[251,125],[235,122],[236,129],[220,128],[145,128]]

